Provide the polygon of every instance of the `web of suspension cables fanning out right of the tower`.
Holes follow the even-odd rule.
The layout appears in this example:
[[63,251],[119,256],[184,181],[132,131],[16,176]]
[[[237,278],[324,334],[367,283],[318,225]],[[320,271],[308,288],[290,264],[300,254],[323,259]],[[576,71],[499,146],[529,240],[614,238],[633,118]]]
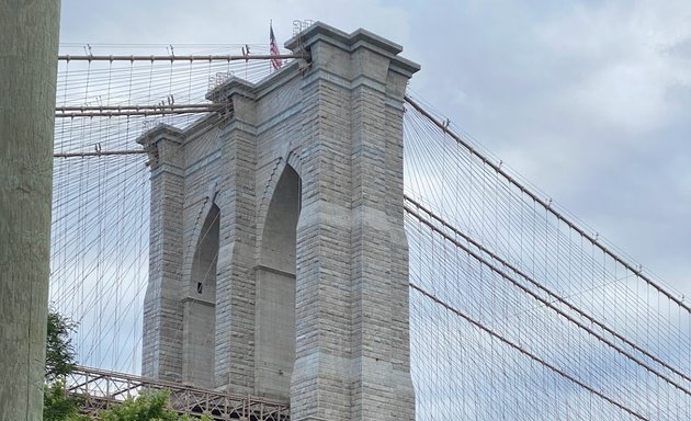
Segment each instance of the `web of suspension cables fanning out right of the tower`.
[[404,120],[418,413],[688,418],[686,308],[428,114]]

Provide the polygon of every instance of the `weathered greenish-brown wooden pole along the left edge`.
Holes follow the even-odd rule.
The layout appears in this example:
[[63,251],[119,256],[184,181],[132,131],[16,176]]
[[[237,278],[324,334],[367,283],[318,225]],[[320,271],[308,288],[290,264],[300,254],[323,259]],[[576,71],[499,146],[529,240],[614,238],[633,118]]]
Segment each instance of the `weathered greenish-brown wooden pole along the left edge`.
[[43,418],[59,0],[0,0],[0,419]]

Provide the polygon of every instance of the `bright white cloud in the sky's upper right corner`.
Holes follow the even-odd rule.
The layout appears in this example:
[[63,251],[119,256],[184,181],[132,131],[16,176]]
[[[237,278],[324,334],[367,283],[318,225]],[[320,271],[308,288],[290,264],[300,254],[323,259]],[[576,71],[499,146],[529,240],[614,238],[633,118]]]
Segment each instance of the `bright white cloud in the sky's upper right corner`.
[[668,93],[689,86],[691,67],[667,50],[691,36],[690,18],[688,2],[638,2],[576,7],[547,22],[537,30],[547,53],[581,66],[557,99],[630,135],[668,124],[683,105]]

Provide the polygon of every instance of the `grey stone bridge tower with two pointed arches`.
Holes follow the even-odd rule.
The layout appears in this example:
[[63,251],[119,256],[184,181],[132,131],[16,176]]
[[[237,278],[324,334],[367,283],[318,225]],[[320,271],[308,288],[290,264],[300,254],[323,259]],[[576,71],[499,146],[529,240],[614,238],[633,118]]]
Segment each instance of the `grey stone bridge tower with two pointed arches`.
[[293,420],[412,420],[403,102],[419,66],[316,23],[295,60],[150,155],[143,374],[288,400]]

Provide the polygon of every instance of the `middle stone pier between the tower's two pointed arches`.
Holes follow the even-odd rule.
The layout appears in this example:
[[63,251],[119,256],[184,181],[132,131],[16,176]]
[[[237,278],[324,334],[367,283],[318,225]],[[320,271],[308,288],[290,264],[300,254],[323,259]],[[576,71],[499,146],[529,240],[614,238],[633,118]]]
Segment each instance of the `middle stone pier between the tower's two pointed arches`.
[[220,128],[222,171],[216,202],[220,238],[216,273],[215,385],[235,392],[254,391],[254,171],[256,103],[249,86],[227,87],[233,118]]

